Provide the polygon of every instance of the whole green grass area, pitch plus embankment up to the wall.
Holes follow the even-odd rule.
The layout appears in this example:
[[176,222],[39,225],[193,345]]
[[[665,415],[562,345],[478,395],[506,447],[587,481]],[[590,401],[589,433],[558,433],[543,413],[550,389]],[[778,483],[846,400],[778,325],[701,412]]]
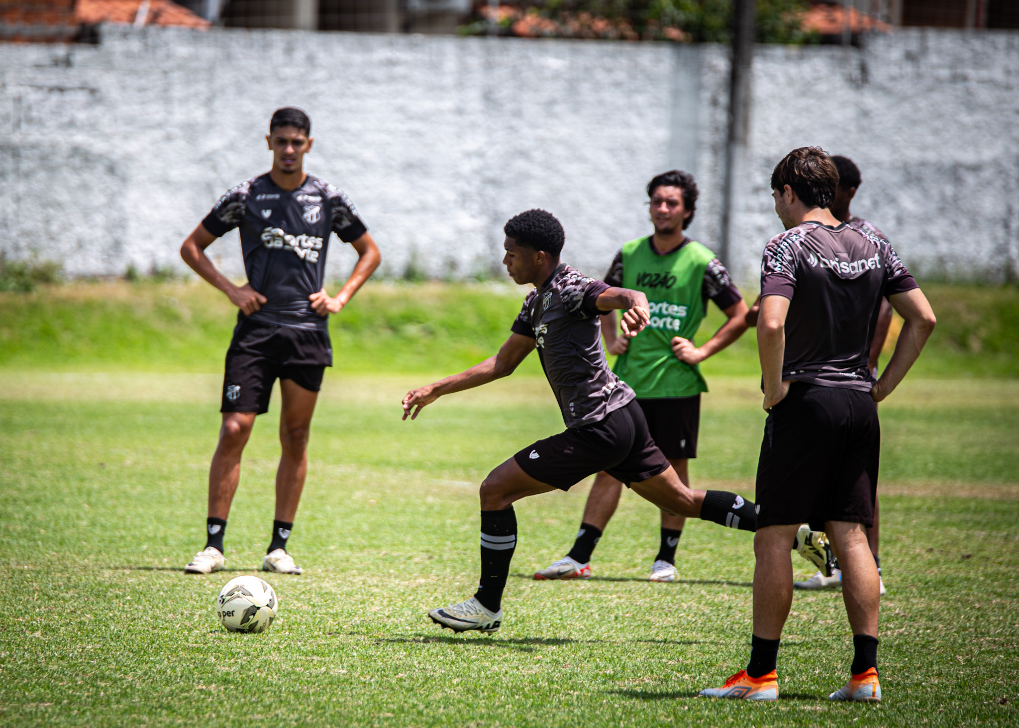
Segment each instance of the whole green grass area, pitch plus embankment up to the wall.
[[[181,573],[204,538],[222,297],[180,282],[0,294],[0,725],[1017,725],[1019,299],[928,294],[938,337],[881,406],[880,706],[825,699],[852,655],[838,592],[796,595],[783,699],[694,697],[746,662],[747,533],[691,522],[681,581],[651,584],[656,514],[627,495],[594,578],[529,579],[569,549],[587,484],[518,505],[496,635],[427,620],[473,591],[481,478],[561,419],[535,361],[413,423],[398,401],[492,351],[519,290],[374,284],[332,319],[337,367],[291,539],[306,573],[270,577],[280,613],[261,635],[222,630],[212,601],[268,541],[278,400],[246,453],[227,573]],[[698,485],[752,495],[754,349],[745,336],[704,367]]]

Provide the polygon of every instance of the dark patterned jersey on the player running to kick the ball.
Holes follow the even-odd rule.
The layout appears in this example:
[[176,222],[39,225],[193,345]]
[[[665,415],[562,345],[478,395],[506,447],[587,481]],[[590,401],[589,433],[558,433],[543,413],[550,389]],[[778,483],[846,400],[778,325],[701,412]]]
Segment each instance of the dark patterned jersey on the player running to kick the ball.
[[598,316],[604,311],[595,302],[608,288],[564,263],[527,295],[513,323],[515,333],[536,340],[567,427],[597,422],[634,399],[601,348]]

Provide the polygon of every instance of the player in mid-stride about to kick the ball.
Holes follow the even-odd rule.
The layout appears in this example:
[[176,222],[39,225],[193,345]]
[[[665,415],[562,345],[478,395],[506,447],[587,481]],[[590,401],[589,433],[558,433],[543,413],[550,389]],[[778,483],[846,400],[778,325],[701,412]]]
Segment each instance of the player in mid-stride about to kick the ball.
[[[412,389],[404,418],[414,419],[442,395],[511,374],[534,349],[566,422],[565,432],[538,440],[492,470],[481,484],[481,579],[474,596],[433,609],[432,621],[453,631],[493,632],[517,545],[513,503],[527,496],[569,489],[601,470],[677,516],[754,529],[754,505],[725,490],[687,487],[648,435],[634,393],[611,372],[599,341],[599,316],[625,311],[623,331],[634,336],[650,320],[647,297],[610,287],[559,263],[565,235],[544,210],[528,210],[506,222],[503,264],[520,284],[532,283],[513,333],[494,357],[465,372]],[[413,414],[412,414],[413,411]]]

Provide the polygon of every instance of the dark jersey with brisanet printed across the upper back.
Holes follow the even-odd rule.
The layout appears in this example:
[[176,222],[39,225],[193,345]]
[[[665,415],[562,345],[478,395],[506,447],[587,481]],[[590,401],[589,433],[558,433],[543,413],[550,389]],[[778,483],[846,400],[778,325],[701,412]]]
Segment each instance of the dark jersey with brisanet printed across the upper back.
[[782,378],[869,392],[881,298],[915,288],[891,244],[867,229],[808,221],[772,238],[761,297],[790,299]]

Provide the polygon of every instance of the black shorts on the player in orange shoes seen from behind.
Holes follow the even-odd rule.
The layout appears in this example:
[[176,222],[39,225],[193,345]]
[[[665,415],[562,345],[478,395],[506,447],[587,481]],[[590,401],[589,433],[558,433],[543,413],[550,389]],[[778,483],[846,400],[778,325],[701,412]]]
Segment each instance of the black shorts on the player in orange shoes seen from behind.
[[874,521],[881,431],[870,393],[793,382],[757,465],[757,527]]

